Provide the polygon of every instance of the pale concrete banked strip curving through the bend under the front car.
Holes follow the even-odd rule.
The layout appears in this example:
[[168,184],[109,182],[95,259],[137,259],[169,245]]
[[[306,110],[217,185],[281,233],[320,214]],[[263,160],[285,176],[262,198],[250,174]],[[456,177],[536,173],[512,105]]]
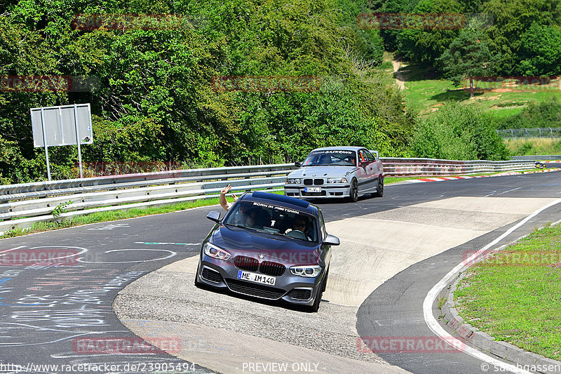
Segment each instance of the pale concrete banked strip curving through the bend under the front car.
[[550,201],[454,197],[328,222],[327,232],[342,243],[334,248],[318,313],[195,288],[197,256],[131,283],[119,293],[114,310],[141,337],[180,337],[182,350],[175,356],[220,373],[247,373],[250,363],[260,368],[286,363],[288,372],[308,365],[318,373],[405,373],[359,349],[360,304],[410,265],[520,220]]

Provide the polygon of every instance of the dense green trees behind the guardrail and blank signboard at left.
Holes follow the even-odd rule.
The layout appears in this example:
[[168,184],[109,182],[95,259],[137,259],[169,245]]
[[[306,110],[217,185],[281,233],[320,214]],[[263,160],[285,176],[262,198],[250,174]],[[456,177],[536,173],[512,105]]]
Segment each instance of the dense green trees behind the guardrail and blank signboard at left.
[[[366,4],[366,2],[364,2]],[[370,67],[384,52],[354,1],[25,0],[0,8],[0,76],[94,76],[90,93],[0,91],[0,178],[46,176],[30,107],[90,102],[84,161],[184,166],[295,161],[355,144],[406,154],[414,123]],[[72,27],[76,15],[178,15],[182,27]],[[312,92],[217,90],[218,76],[318,76]],[[258,91],[258,90],[257,90]],[[49,149],[53,178],[72,176],[76,147]]]

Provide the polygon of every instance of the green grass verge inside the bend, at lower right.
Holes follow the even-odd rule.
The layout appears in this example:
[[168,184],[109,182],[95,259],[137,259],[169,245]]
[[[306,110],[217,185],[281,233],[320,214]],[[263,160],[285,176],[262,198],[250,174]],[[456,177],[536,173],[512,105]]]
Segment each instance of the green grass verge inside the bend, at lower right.
[[454,293],[475,328],[561,359],[561,225],[535,230],[468,269]]

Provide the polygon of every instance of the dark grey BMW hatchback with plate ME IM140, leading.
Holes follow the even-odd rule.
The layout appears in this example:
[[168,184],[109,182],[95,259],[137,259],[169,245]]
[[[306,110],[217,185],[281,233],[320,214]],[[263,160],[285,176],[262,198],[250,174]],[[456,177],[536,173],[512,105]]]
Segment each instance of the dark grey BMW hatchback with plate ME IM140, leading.
[[320,208],[268,192],[241,196],[203,241],[196,286],[306,305],[314,312],[325,290],[331,246]]

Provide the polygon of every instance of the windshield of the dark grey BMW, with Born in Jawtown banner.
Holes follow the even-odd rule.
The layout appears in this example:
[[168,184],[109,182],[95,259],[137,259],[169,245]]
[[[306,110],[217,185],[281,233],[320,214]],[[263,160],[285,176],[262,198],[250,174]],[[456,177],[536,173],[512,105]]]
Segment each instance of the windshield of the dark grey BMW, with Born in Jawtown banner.
[[292,239],[318,241],[318,226],[313,216],[274,203],[239,201],[223,223]]

